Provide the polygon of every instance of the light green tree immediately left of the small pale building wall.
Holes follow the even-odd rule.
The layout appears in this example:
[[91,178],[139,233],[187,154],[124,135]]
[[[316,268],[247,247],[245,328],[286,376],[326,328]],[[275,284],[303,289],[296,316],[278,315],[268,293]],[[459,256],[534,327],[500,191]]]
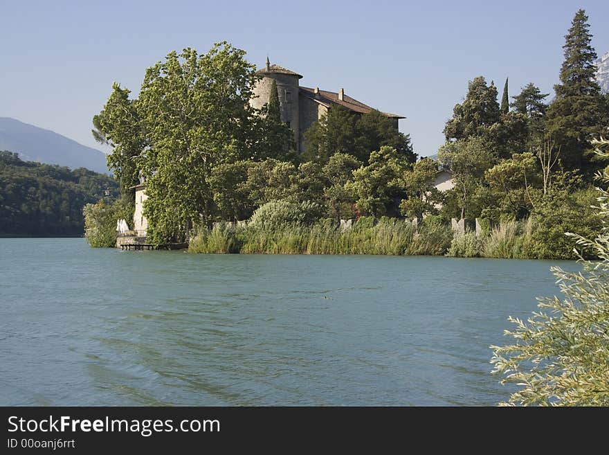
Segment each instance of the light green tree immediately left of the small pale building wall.
[[438,163],[429,158],[417,161],[412,169],[404,172],[402,187],[405,197],[400,203],[403,215],[421,218],[425,214],[437,214],[436,204],[442,199],[434,186],[437,173]]

